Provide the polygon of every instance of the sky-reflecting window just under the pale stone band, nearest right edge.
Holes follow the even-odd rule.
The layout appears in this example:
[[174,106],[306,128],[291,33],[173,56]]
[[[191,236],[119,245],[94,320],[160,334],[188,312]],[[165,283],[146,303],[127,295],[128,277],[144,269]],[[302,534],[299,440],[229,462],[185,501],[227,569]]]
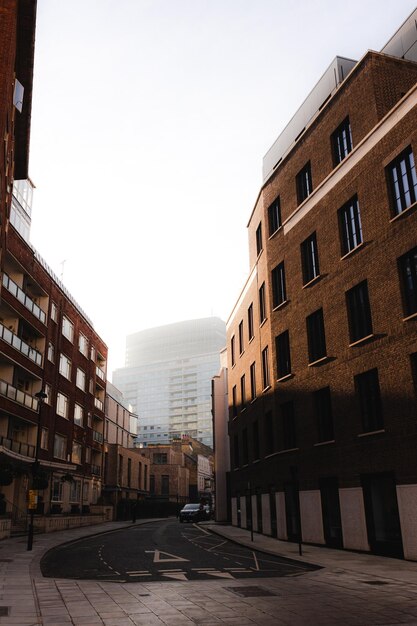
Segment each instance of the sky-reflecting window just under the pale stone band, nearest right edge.
[[399,215],[416,202],[417,175],[414,155],[409,146],[387,167],[392,211]]

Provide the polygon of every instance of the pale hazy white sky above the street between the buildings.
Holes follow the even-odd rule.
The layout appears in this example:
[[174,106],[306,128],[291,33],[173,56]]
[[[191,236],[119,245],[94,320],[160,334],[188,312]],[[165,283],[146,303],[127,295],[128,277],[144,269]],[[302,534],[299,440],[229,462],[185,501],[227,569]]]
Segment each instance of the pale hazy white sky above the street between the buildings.
[[[383,8],[383,10],[382,10]],[[124,366],[248,276],[262,158],[336,55],[415,0],[38,0],[31,241]]]

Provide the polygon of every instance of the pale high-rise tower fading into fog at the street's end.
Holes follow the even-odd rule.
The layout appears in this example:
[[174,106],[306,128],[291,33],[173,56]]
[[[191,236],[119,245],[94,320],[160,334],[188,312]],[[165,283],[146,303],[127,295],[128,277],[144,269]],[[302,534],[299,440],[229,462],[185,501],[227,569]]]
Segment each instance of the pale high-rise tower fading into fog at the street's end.
[[225,342],[226,326],[217,317],[127,336],[126,366],[113,382],[139,415],[139,443],[190,435],[212,446],[211,378]]

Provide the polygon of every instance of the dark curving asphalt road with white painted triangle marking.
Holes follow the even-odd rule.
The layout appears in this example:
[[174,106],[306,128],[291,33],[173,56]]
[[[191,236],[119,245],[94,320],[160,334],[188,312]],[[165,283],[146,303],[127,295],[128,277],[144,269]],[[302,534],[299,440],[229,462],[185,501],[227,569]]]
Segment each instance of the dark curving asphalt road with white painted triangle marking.
[[117,582],[300,576],[319,569],[270,556],[168,519],[81,539],[50,550],[41,561],[50,578]]

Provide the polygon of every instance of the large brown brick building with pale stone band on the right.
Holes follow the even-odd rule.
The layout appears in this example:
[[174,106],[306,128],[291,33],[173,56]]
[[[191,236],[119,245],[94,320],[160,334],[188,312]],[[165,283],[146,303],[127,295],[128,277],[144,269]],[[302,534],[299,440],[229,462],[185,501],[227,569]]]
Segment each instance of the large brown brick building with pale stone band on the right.
[[265,156],[251,271],[227,322],[233,523],[408,559],[415,18],[381,53],[336,58]]

